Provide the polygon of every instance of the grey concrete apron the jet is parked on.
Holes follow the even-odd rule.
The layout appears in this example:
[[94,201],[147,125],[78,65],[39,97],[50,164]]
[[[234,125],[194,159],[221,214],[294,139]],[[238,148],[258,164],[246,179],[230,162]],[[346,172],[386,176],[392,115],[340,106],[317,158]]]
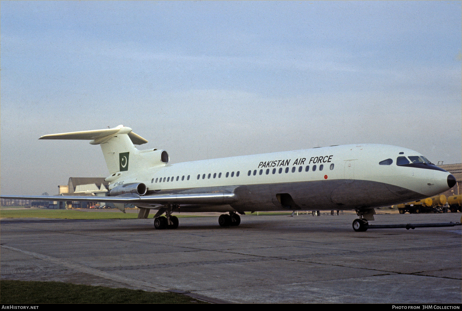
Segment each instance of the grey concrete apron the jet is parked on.
[[[382,214],[371,224],[457,222]],[[461,303],[461,226],[354,232],[353,214],[1,219],[1,280],[175,290],[235,303]]]

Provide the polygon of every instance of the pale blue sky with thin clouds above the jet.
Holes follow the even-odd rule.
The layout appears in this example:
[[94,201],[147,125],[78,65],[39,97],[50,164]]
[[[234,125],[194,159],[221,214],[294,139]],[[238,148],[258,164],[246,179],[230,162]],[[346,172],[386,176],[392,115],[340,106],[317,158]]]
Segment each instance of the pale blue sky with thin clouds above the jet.
[[351,143],[461,163],[461,1],[0,1],[0,185],[107,177],[44,134],[133,128],[170,163]]

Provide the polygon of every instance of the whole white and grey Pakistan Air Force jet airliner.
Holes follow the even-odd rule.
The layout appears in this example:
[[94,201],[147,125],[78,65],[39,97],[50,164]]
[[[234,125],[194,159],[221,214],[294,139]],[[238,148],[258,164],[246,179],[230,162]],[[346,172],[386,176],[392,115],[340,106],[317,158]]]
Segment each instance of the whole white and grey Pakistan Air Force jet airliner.
[[[91,140],[109,169],[109,193],[125,204],[151,209],[157,229],[178,227],[174,212],[222,212],[220,226],[237,226],[239,214],[256,211],[356,210],[355,231],[367,230],[374,207],[437,195],[456,184],[447,171],[410,149],[376,144],[329,146],[168,164],[165,150],[138,150],[147,140],[116,128],[50,134],[40,139]],[[16,196],[9,199],[95,201],[82,196]],[[165,213],[165,216],[161,216]],[[228,213],[228,214],[225,214]]]

